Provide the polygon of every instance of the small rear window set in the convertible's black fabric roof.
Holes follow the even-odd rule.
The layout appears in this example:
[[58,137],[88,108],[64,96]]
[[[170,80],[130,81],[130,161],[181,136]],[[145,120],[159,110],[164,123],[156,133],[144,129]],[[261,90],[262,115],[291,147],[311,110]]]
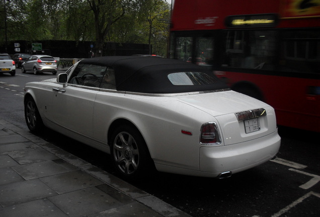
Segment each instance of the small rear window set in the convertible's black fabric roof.
[[203,72],[176,72],[168,75],[173,85],[206,85],[217,82],[217,79]]

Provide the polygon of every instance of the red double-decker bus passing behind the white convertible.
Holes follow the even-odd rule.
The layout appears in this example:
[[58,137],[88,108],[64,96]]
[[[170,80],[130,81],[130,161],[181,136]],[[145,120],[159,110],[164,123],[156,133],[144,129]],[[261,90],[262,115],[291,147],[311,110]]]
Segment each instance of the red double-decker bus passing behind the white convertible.
[[320,0],[175,0],[170,34],[168,57],[272,105],[278,125],[320,132]]

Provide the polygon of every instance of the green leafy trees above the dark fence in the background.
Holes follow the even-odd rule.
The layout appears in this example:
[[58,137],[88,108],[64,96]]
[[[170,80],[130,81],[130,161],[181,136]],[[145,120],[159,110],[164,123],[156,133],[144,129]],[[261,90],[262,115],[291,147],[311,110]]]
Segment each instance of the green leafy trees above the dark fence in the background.
[[[4,3],[6,5],[4,5]],[[0,45],[7,40],[108,41],[152,45],[166,55],[170,5],[165,0],[2,0]],[[151,47],[151,46],[150,46]],[[151,53],[151,50],[150,50]]]

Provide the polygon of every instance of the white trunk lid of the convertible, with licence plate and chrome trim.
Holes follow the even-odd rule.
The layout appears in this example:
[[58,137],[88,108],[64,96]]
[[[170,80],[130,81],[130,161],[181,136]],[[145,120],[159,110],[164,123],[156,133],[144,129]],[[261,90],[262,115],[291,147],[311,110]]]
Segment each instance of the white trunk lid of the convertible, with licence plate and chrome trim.
[[217,120],[224,145],[254,140],[276,131],[274,109],[241,93],[221,91],[184,96],[180,100]]

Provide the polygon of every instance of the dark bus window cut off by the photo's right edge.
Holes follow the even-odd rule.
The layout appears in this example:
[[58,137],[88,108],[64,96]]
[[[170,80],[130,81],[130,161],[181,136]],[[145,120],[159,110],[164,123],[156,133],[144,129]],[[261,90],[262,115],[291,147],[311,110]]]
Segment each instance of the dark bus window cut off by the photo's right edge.
[[280,71],[319,73],[320,31],[284,31]]

